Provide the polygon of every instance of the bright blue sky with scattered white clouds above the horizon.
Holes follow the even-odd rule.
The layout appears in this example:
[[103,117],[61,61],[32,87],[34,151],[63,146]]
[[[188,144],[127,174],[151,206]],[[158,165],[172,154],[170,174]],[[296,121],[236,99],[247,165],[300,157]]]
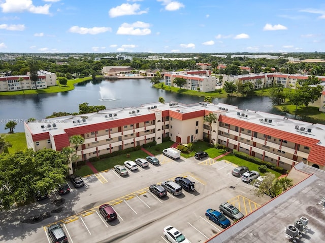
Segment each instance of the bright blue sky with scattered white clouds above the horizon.
[[0,52],[324,52],[323,0],[0,0]]

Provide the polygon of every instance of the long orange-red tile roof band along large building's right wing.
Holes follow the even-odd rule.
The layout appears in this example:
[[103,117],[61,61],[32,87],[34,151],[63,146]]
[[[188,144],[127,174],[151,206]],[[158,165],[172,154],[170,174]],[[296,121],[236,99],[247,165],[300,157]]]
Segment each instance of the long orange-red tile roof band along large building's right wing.
[[223,123],[227,123],[230,125],[237,126],[239,128],[245,128],[248,130],[252,130],[257,133],[269,135],[271,137],[283,139],[286,141],[290,141],[293,143],[301,144],[307,147],[311,147],[314,144],[318,143],[319,140],[308,138],[299,134],[293,134],[285,131],[281,131],[275,128],[269,128],[263,125],[253,124],[249,123],[248,121],[242,120],[242,119],[236,119],[225,115],[219,116],[219,121],[222,121]]

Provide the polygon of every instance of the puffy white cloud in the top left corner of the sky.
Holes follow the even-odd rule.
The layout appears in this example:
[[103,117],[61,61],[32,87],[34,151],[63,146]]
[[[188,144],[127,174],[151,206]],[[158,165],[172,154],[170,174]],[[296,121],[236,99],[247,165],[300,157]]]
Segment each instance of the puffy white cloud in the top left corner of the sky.
[[0,4],[3,13],[30,12],[33,14],[49,14],[50,4],[34,6],[31,0],[6,0]]

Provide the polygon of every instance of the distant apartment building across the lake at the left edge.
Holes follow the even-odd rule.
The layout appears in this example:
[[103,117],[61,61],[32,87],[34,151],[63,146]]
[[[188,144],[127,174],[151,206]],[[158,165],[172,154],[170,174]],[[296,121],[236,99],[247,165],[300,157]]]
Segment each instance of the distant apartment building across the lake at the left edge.
[[56,85],[56,74],[47,71],[38,71],[38,80],[32,82],[30,75],[16,75],[0,77],[0,92],[45,89]]

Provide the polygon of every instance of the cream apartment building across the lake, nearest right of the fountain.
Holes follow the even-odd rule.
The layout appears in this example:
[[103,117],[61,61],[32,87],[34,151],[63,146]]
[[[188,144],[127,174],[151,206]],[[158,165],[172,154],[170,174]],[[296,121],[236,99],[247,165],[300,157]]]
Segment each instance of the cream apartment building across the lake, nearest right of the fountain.
[[[200,72],[200,71],[199,71]],[[202,72],[202,71],[201,71]],[[208,72],[204,71],[203,72]],[[169,72],[165,73],[165,85],[176,87],[174,84],[174,79],[176,77],[184,78],[186,84],[183,86],[186,90],[196,90],[202,92],[211,92],[215,90],[216,77],[210,75],[194,74],[192,72],[182,73],[182,72]]]

